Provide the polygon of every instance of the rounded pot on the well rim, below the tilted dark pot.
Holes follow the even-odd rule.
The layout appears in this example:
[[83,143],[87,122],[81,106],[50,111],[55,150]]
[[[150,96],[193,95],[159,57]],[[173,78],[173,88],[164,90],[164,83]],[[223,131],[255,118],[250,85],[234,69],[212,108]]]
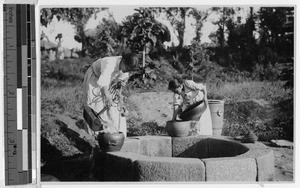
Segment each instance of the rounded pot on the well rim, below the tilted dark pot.
[[185,137],[189,135],[191,121],[168,121],[166,131],[171,137]]

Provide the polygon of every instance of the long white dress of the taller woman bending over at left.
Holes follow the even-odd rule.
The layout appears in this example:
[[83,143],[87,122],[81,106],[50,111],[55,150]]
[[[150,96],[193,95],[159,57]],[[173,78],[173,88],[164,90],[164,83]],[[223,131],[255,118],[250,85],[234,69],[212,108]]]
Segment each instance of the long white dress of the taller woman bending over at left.
[[[111,97],[114,99],[115,93],[118,93],[118,91],[115,91],[113,86],[117,82],[125,84],[129,78],[129,73],[123,73],[119,69],[121,60],[122,56],[100,58],[85,73],[83,99],[96,113],[99,113],[105,107],[105,97],[102,94],[102,88],[108,86]],[[126,136],[126,118],[121,116],[118,101],[114,100],[113,105],[101,113],[99,117],[102,121],[113,125]],[[92,130],[89,129],[89,131]]]

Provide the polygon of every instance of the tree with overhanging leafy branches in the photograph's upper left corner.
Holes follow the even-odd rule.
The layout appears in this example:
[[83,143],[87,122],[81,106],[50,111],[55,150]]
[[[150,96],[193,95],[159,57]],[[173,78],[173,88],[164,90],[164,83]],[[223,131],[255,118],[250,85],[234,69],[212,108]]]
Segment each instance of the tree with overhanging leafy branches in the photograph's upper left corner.
[[84,29],[87,21],[92,17],[96,17],[97,13],[107,8],[44,8],[40,12],[41,24],[47,27],[52,21],[53,16],[58,20],[62,19],[75,26],[76,36],[74,39],[82,43],[82,56],[88,46],[87,37]]

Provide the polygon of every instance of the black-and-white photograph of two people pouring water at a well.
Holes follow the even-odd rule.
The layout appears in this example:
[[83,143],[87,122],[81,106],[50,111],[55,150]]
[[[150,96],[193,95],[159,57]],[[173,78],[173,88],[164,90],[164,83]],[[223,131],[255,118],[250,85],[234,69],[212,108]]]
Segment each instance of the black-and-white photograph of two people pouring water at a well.
[[295,15],[40,7],[41,182],[294,183]]

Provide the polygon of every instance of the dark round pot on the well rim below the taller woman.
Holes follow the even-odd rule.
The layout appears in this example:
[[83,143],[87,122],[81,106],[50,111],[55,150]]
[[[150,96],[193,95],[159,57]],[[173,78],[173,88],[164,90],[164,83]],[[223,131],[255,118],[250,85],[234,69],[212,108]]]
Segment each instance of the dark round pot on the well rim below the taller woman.
[[120,151],[123,144],[125,136],[122,132],[119,133],[99,133],[97,136],[98,143],[101,151],[113,152]]

